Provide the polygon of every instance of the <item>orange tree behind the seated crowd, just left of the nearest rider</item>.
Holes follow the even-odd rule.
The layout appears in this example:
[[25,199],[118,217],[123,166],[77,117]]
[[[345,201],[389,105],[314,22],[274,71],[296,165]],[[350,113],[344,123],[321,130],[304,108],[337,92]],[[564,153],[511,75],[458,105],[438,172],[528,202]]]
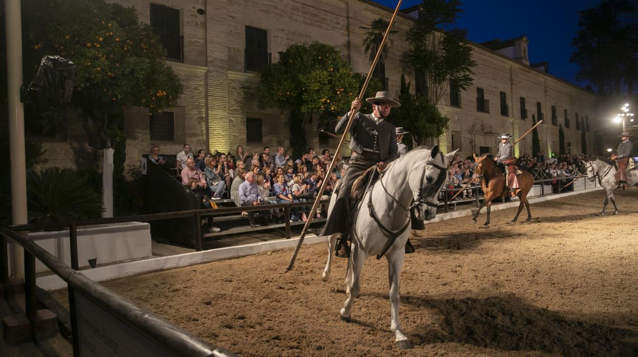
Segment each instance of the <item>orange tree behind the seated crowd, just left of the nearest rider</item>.
[[[314,131],[306,126],[313,117],[323,127],[340,118],[350,110],[364,80],[334,47],[316,41],[309,46],[291,45],[279,52],[279,62],[260,72],[259,103],[290,113],[290,146],[300,156],[312,140],[306,132]],[[374,96],[380,88],[378,81],[371,81],[366,96]]]

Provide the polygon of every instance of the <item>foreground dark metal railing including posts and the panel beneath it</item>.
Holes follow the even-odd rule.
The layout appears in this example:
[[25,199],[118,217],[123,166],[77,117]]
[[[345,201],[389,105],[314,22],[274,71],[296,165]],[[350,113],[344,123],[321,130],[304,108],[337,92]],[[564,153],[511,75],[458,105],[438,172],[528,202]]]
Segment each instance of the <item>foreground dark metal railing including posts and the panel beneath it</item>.
[[[73,355],[82,356],[82,352],[87,348],[95,347],[95,340],[91,340],[90,333],[87,332],[85,321],[92,326],[97,326],[96,330],[101,337],[117,339],[110,335],[114,330],[124,326],[133,332],[141,333],[142,340],[135,339],[133,351],[127,349],[126,340],[115,341],[115,351],[118,347],[127,349],[128,353],[144,353],[149,350],[163,350],[167,355],[174,356],[234,356],[234,354],[210,346],[206,342],[198,339],[195,335],[186,330],[169,323],[165,319],[156,316],[152,312],[137,307],[133,302],[117,295],[113,291],[87,278],[84,274],[75,271],[63,261],[47,252],[29,238],[21,237],[15,231],[6,227],[0,227],[0,244],[4,251],[2,257],[3,276],[2,282],[8,282],[8,257],[6,255],[6,239],[11,239],[24,249],[24,283],[25,283],[25,303],[26,315],[32,326],[36,322],[37,300],[36,300],[36,268],[35,259],[38,258],[52,272],[56,273],[68,284],[68,303],[71,317],[71,339],[73,342]],[[78,298],[82,300],[82,307],[78,305]],[[103,321],[91,320],[85,312],[93,309],[93,318],[98,314],[103,314],[118,321],[121,326],[103,324]],[[98,312],[96,312],[98,311]],[[106,315],[104,315],[106,314]],[[83,329],[78,326],[78,321],[82,320]],[[110,331],[109,331],[110,330]],[[99,342],[99,341],[98,341]],[[87,347],[89,345],[89,347]],[[109,347],[113,348],[110,344]],[[137,350],[135,350],[137,348]],[[100,352],[100,351],[98,351]],[[105,353],[105,351],[101,351]]]

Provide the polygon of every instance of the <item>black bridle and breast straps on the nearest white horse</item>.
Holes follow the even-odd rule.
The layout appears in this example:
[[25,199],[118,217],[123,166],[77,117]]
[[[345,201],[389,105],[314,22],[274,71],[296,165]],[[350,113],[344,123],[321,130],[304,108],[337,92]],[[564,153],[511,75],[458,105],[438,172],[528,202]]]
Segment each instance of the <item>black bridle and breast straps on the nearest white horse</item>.
[[[378,224],[379,228],[381,229],[381,231],[383,233],[385,233],[385,234],[390,236],[390,239],[386,242],[385,246],[383,247],[383,251],[376,256],[376,259],[381,259],[382,256],[385,255],[385,253],[388,251],[388,249],[390,249],[390,247],[392,247],[392,244],[394,244],[394,241],[396,240],[396,238],[398,238],[399,235],[401,235],[405,230],[408,229],[408,227],[410,226],[410,223],[411,223],[410,211],[412,210],[412,208],[415,208],[418,205],[427,205],[429,207],[434,207],[434,208],[438,207],[438,204],[432,202],[431,200],[428,200],[427,197],[431,196],[434,192],[438,193],[438,191],[441,189],[441,186],[443,185],[443,181],[445,180],[445,172],[447,171],[447,168],[441,166],[440,164],[434,163],[434,161],[432,161],[432,159],[433,158],[430,157],[430,159],[423,166],[423,171],[421,173],[421,180],[419,181],[420,182],[420,185],[419,185],[419,196],[417,196],[417,199],[409,207],[405,207],[404,205],[402,205],[401,202],[399,202],[399,200],[396,199],[396,197],[392,196],[392,194],[390,194],[388,192],[388,190],[385,188],[385,185],[383,184],[383,177],[381,177],[379,179],[379,183],[381,184],[381,187],[383,188],[383,191],[385,191],[385,193],[388,196],[390,196],[390,198],[392,198],[392,201],[394,201],[394,203],[396,203],[399,207],[403,208],[404,214],[408,218],[408,221],[406,222],[406,224],[404,224],[404,226],[401,227],[396,232],[394,232],[394,231],[390,230],[389,228],[387,228],[386,226],[384,226],[383,223],[381,222],[381,219],[379,219],[378,214],[376,214],[375,207],[372,204],[372,191],[371,191],[371,187],[369,186],[369,182],[368,182],[368,188],[366,189],[366,192],[370,191],[370,196],[369,196],[368,201],[367,201],[367,209],[369,211],[370,217],[372,217],[375,220],[376,224]],[[432,184],[430,184],[427,187],[426,190],[424,190],[423,189],[423,180],[426,177],[427,166],[434,166],[435,168],[438,168],[439,169],[439,175],[436,178],[436,180]],[[355,217],[356,217],[356,215],[355,215]],[[353,233],[354,233],[354,231],[353,231]],[[354,236],[356,238],[356,235],[354,235]]]

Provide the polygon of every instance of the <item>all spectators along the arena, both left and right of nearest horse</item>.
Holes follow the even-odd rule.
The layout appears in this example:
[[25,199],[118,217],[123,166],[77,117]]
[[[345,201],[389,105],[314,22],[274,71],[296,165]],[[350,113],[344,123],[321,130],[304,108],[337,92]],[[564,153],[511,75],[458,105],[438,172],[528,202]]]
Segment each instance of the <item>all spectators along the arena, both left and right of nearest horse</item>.
[[[177,153],[175,170],[181,176],[182,184],[204,196],[204,202],[208,199],[228,198],[240,207],[315,200],[323,180],[329,180],[322,196],[322,200],[327,200],[345,173],[347,165],[341,155],[337,155],[336,168],[327,173],[334,157],[328,149],[317,155],[313,148],[308,148],[301,157],[293,158],[285,154],[283,147],[278,147],[272,154],[270,147],[263,147],[262,152],[250,153],[239,145],[234,153],[198,150],[197,156],[193,156],[190,145],[184,144],[182,151]],[[589,159],[590,156],[584,154],[561,154],[558,157],[545,158],[538,152],[536,156],[524,154],[519,157],[517,166],[521,170],[530,171],[535,180],[565,178],[582,175],[585,172],[585,162]],[[149,160],[159,165],[166,163],[156,146],[151,148]],[[444,185],[449,189],[450,197],[457,192],[455,189],[460,189],[473,180],[469,186],[471,189],[464,190],[454,200],[482,196],[474,169],[472,157],[463,159],[456,155],[450,161]],[[308,206],[293,207],[291,221],[307,221],[309,210]],[[267,224],[284,219],[276,210],[265,212],[263,215]],[[325,213],[324,209],[324,216]],[[253,212],[244,214],[248,215],[251,226],[255,226]]]

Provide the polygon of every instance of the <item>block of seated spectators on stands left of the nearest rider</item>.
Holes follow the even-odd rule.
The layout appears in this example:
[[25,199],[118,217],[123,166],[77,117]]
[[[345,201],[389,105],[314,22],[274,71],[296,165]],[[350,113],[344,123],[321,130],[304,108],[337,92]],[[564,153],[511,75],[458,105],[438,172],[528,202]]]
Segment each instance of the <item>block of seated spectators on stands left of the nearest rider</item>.
[[[166,163],[156,146],[151,148],[148,157],[153,163]],[[182,184],[202,196],[204,202],[227,198],[240,207],[315,200],[323,180],[329,180],[322,196],[322,200],[327,200],[345,173],[345,161],[339,154],[336,168],[331,173],[326,172],[333,157],[328,149],[318,156],[313,148],[308,148],[304,155],[293,159],[285,154],[283,147],[278,147],[272,155],[270,147],[249,153],[241,145],[234,153],[198,150],[194,156],[187,143],[175,156],[175,171]],[[290,220],[307,221],[309,210],[305,206],[293,207]],[[263,217],[267,224],[283,221],[279,212],[265,212]],[[255,226],[253,212],[244,214],[248,215],[251,226]],[[325,208],[320,207],[317,215],[325,214]]]

